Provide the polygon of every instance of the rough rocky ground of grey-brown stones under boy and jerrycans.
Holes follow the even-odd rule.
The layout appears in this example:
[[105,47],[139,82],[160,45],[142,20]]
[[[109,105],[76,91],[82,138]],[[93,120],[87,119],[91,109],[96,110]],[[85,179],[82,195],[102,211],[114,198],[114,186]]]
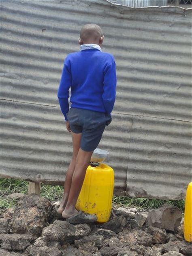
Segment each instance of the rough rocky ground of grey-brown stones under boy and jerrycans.
[[0,256],[192,255],[174,206],[149,212],[113,207],[109,222],[72,225],[57,215],[57,203],[35,194],[12,196],[17,206],[0,218]]

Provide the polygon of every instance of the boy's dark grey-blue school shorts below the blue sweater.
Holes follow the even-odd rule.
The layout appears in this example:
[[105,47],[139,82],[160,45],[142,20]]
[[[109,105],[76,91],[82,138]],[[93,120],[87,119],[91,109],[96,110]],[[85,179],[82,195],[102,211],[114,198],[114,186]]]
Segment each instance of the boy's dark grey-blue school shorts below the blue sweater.
[[98,111],[70,108],[67,118],[72,132],[82,134],[80,148],[84,151],[94,151],[111,117]]

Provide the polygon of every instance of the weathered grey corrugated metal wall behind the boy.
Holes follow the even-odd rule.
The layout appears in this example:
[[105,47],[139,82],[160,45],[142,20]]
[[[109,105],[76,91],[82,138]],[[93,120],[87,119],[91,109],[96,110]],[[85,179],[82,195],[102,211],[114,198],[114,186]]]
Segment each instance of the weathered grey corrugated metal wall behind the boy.
[[64,181],[72,143],[57,90],[85,23],[103,29],[117,64],[110,152],[115,190],[179,199],[191,181],[191,9],[105,0],[1,1],[2,177]]

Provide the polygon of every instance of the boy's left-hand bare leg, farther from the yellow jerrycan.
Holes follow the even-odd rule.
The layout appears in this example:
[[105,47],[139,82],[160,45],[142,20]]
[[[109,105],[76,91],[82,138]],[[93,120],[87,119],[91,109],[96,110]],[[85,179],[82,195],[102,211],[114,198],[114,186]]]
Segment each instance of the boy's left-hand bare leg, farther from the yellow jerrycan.
[[60,207],[58,208],[58,213],[62,213],[64,211],[67,200],[68,200],[71,181],[72,181],[73,173],[75,170],[75,162],[76,162],[77,154],[79,152],[79,147],[81,143],[81,133],[77,134],[77,133],[71,132],[71,135],[72,135],[72,141],[73,141],[73,156],[69,164],[68,171],[66,173],[64,193],[63,193],[62,201],[60,203]]

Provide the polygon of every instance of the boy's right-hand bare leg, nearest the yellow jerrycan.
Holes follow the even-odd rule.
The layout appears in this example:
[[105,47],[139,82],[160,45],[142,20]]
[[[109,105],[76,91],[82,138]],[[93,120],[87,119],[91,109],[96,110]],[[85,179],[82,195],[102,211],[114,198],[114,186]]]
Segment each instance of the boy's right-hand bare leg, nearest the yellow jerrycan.
[[79,149],[79,153],[76,158],[75,171],[73,173],[68,201],[62,213],[63,218],[69,218],[78,213],[78,211],[75,209],[75,204],[81,191],[81,187],[83,185],[83,181],[85,178],[86,169],[90,163],[92,153],[93,151],[86,152],[82,149]]

